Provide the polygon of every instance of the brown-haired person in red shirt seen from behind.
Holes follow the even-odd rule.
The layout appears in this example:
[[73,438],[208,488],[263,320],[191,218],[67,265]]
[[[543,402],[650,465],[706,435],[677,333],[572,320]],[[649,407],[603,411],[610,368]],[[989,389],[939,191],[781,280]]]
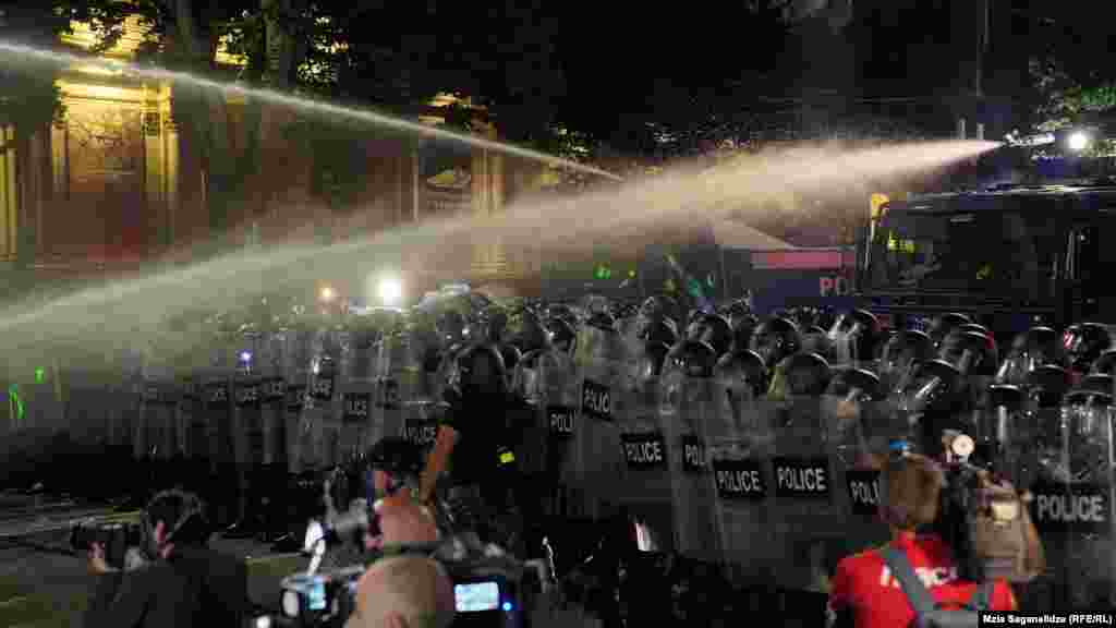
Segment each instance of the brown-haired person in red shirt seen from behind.
[[[972,600],[979,584],[961,580],[952,552],[937,535],[917,534],[937,516],[944,476],[925,456],[907,454],[888,462],[882,475],[881,515],[892,531],[891,545],[901,549],[915,574],[942,608]],[[1016,610],[1007,581],[997,581],[987,610]],[[830,583],[827,625],[830,628],[903,628],[915,619],[906,593],[876,550],[846,556]]]

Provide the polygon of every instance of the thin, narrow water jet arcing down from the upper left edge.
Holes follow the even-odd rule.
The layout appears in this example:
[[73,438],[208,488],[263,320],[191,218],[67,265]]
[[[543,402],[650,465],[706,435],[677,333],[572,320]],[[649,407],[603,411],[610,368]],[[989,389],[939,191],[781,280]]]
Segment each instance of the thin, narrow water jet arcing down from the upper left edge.
[[427,137],[433,137],[435,140],[459,142],[477,149],[483,149],[512,156],[519,156],[531,161],[547,163],[549,165],[568,168],[577,172],[583,172],[586,174],[595,174],[597,177],[604,177],[606,179],[612,179],[614,181],[623,180],[620,177],[617,177],[612,172],[600,170],[599,168],[593,168],[589,165],[577,163],[575,161],[570,161],[568,159],[549,155],[543,152],[532,151],[530,149],[525,149],[521,146],[516,146],[503,142],[484,140],[481,137],[474,137],[472,135],[466,135],[463,133],[454,133],[452,131],[446,131],[444,129],[435,129],[432,126],[427,126],[425,124],[420,124],[417,122],[411,122],[400,117],[375,113],[367,110],[350,108],[330,103],[323,103],[310,98],[300,98],[298,96],[291,96],[289,94],[282,94],[270,89],[257,89],[252,87],[244,87],[241,85],[220,83],[208,78],[200,78],[184,72],[175,72],[175,70],[154,68],[154,67],[150,68],[141,67],[135,64],[106,61],[103,59],[92,59],[87,57],[80,57],[70,53],[57,53],[54,50],[45,50],[42,48],[36,48],[33,46],[26,46],[22,44],[11,44],[7,41],[0,41],[0,54],[6,54],[22,59],[36,59],[39,61],[50,63],[56,65],[81,64],[87,67],[94,66],[109,72],[123,70],[125,73],[129,73],[135,76],[148,78],[151,80],[189,83],[198,87],[218,89],[238,96],[249,96],[253,98],[259,98],[263,102],[277,105],[285,105],[300,110],[312,110],[323,115],[344,117],[376,126],[393,129],[396,131],[406,131],[408,133],[414,133],[416,135],[424,135]]

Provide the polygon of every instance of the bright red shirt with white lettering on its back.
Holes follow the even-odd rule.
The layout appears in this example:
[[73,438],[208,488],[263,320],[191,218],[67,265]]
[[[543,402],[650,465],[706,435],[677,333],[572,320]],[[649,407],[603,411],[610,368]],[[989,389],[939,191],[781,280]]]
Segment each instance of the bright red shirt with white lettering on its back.
[[[949,545],[936,535],[902,535],[893,543],[901,549],[915,574],[943,608],[958,608],[977,593],[978,584],[961,580]],[[988,610],[1016,610],[1016,597],[1007,581],[997,581]],[[906,594],[876,550],[846,556],[837,564],[827,608],[827,625],[856,628],[910,626],[914,610]]]

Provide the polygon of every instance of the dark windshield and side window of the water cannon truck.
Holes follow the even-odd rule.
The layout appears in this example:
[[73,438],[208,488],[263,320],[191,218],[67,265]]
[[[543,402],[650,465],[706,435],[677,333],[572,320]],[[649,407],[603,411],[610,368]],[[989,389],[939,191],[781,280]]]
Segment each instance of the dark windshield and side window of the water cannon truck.
[[1056,255],[1054,229],[1020,213],[891,211],[876,226],[866,278],[877,291],[1043,298]]

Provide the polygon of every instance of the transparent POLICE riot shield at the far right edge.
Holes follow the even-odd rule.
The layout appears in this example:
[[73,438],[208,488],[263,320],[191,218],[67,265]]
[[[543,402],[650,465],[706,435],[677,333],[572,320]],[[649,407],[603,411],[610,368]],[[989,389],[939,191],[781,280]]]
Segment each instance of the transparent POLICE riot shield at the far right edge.
[[1031,517],[1055,580],[1054,608],[1112,606],[1112,394],[1075,390],[1040,425]]

